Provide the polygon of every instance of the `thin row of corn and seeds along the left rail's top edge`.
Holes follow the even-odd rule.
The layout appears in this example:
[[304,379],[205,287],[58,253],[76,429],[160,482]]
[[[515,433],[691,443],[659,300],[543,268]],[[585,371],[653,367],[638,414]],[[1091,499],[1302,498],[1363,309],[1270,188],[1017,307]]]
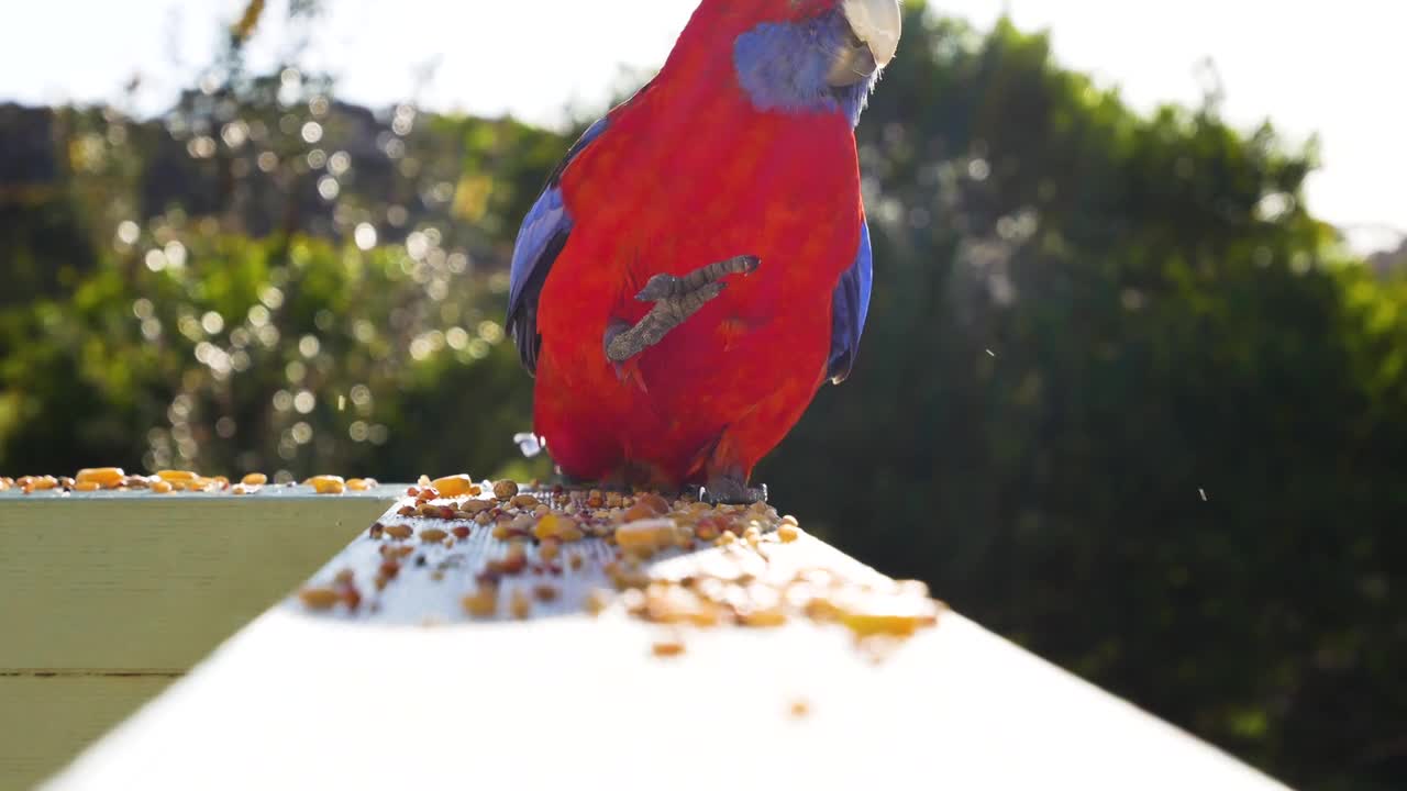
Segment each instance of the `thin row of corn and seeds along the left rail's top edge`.
[[[21,479],[0,477],[0,491],[18,490],[24,494],[55,491],[61,494],[90,491],[151,491],[170,494],[173,491],[198,491],[205,494],[257,494],[269,486],[269,476],[249,473],[231,483],[225,476],[207,477],[190,470],[162,470],[152,476],[127,474],[121,467],[94,467],[79,470],[73,477],[24,476]],[[295,486],[295,484],[286,484]],[[345,491],[369,491],[376,488],[374,479],[342,480],[339,476],[317,476],[303,481],[318,494],[342,494]]]

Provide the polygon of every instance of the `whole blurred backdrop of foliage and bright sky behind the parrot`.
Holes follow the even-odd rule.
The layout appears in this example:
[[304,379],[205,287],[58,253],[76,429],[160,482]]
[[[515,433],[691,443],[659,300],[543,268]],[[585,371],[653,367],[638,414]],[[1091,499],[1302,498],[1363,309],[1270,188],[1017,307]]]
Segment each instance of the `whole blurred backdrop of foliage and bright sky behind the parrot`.
[[[550,474],[514,234],[691,6],[8,10],[0,474]],[[906,8],[860,360],[758,477],[1299,787],[1407,787],[1407,11]]]

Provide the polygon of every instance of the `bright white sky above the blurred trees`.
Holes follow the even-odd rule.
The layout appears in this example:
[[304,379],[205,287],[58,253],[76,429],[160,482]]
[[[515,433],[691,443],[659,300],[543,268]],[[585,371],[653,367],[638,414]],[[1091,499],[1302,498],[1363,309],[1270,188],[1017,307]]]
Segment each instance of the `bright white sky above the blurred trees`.
[[[371,106],[408,99],[415,69],[439,56],[424,104],[550,124],[570,101],[602,100],[620,63],[657,66],[696,0],[324,3],[329,20],[310,55],[312,65],[339,75],[345,99]],[[272,0],[270,17],[281,17],[286,4]],[[1320,135],[1325,167],[1309,186],[1318,215],[1363,228],[1356,235],[1363,246],[1397,243],[1372,227],[1407,229],[1401,0],[931,4],[981,27],[1005,7],[1024,30],[1051,28],[1064,63],[1120,84],[1138,108],[1196,101],[1195,68],[1211,56],[1234,122],[1252,127],[1269,117],[1293,139]],[[243,0],[24,3],[0,32],[0,101],[115,99],[128,77],[142,73],[142,110],[159,110],[190,66],[208,62],[217,21],[242,7]],[[14,24],[17,17],[24,24]],[[272,59],[280,42],[279,31],[265,31],[256,52]]]

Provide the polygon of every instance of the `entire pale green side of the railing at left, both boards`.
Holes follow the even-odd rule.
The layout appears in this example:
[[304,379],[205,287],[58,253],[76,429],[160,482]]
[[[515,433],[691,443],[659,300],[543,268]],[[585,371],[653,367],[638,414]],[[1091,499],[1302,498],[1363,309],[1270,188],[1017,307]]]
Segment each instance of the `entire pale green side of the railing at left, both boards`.
[[0,493],[0,791],[72,760],[401,491]]

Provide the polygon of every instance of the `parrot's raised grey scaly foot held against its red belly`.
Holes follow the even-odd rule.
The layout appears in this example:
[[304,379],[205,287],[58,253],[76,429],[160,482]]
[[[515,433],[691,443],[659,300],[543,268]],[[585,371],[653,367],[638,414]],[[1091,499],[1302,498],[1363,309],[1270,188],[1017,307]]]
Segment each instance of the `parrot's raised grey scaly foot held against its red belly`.
[[613,321],[606,327],[606,359],[619,365],[658,343],[671,329],[723,293],[727,287],[723,277],[751,274],[760,263],[757,256],[740,255],[701,266],[684,277],[656,274],[635,296],[642,303],[654,303],[650,312],[633,327],[623,321]]

